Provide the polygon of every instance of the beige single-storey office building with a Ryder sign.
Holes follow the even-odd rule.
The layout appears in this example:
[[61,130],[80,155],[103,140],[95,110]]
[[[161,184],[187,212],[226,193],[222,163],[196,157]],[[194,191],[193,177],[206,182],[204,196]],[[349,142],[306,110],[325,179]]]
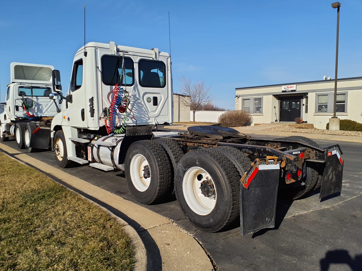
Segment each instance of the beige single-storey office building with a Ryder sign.
[[[333,116],[334,79],[236,88],[235,109],[253,116],[253,123],[303,121],[325,129]],[[362,123],[362,77],[337,82],[336,116]]]

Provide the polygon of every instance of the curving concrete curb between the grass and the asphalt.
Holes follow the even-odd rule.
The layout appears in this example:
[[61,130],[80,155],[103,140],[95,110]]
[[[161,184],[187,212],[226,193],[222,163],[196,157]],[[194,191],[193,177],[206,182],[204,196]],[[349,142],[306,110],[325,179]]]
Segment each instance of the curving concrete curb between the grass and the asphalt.
[[125,220],[128,224],[126,227],[130,227],[131,224],[135,229],[135,235],[130,237],[138,257],[135,270],[214,270],[201,245],[170,219],[3,143],[0,143],[0,149],[105,207],[113,215]]

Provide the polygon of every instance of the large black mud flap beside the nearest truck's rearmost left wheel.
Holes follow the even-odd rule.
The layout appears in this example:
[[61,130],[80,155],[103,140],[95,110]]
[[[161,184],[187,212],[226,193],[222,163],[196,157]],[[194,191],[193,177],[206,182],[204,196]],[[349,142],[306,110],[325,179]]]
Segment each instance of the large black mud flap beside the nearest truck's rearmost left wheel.
[[240,185],[240,231],[247,235],[274,228],[279,184],[279,163],[255,161]]

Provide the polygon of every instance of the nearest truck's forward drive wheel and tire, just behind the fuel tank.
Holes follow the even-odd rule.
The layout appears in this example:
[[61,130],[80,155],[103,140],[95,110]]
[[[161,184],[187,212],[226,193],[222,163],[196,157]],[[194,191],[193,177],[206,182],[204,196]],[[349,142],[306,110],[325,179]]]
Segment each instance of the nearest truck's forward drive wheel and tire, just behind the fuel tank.
[[132,143],[126,153],[125,175],[131,194],[140,203],[159,203],[172,192],[168,154],[153,140]]

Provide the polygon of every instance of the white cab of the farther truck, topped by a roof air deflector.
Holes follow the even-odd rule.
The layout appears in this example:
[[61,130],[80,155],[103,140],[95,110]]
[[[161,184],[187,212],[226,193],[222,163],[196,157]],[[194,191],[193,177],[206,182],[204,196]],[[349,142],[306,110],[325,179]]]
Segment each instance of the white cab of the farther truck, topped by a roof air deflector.
[[57,113],[56,103],[49,100],[54,93],[52,71],[54,66],[30,63],[10,64],[4,110],[0,113],[0,137],[6,141],[15,137],[20,149],[24,148],[24,134],[27,122],[51,120]]

